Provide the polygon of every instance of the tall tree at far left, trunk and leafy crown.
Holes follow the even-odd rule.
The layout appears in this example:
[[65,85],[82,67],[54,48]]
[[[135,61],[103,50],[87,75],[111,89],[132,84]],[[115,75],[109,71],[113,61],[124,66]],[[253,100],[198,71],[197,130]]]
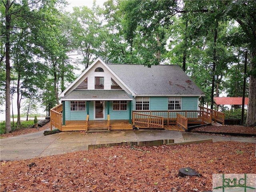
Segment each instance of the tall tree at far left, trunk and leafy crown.
[[[51,18],[47,11],[54,7],[58,0],[24,0],[24,1],[10,1],[1,0],[1,15],[4,30],[3,38],[5,44],[5,62],[6,62],[6,132],[10,132],[10,71],[11,56],[14,57],[12,52],[13,43],[15,42],[16,32],[20,32],[24,29],[29,29],[30,32],[34,33],[44,28],[38,28],[37,24],[49,21]],[[48,8],[48,9],[47,9]],[[42,9],[44,12],[42,12]],[[33,44],[35,46],[36,43]],[[27,45],[31,46],[31,44]],[[15,60],[15,59],[14,59]]]

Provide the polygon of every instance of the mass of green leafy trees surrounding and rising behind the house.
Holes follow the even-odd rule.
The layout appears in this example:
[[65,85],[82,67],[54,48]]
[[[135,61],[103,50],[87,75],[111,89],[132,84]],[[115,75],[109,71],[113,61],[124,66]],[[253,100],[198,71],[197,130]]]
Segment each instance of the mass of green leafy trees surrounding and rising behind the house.
[[64,0],[1,0],[6,132],[12,94],[18,95],[18,124],[23,99],[40,98],[50,112],[77,66],[84,70],[96,57],[148,67],[178,64],[206,94],[201,104],[211,108],[214,96],[242,96],[246,76],[246,124],[256,124],[256,1],[108,0],[73,12],[64,6]]

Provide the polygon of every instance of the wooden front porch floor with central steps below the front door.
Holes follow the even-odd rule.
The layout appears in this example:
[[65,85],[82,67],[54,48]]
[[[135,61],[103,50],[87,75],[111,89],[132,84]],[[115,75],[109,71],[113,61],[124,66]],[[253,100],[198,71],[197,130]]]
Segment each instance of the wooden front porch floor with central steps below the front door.
[[[61,131],[85,131],[86,120],[66,121],[65,125],[61,126]],[[88,131],[108,130],[107,120],[90,120]],[[132,130],[132,125],[129,120],[110,120],[110,130]]]

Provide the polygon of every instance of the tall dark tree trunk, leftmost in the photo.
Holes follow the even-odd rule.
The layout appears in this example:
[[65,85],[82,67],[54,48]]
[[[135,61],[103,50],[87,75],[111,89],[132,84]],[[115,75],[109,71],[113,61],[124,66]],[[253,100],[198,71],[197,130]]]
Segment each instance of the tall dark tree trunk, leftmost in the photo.
[[11,66],[10,66],[10,24],[11,24],[11,16],[9,13],[10,9],[10,0],[6,1],[5,5],[5,19],[6,19],[6,26],[5,26],[5,35],[6,35],[6,85],[5,85],[5,132],[9,133],[12,131],[11,129],[11,112],[10,112],[10,73],[11,73]]

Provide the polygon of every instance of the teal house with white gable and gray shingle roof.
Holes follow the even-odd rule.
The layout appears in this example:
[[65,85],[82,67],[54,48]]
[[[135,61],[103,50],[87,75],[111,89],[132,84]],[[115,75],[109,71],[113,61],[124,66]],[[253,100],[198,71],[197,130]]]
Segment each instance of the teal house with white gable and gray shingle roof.
[[[110,130],[111,120],[126,120],[130,124],[126,128],[130,129],[132,119],[138,116],[135,112],[146,114],[150,120],[167,118],[168,112],[169,119],[169,112],[197,111],[201,96],[204,93],[178,65],[148,68],[140,64],[106,64],[98,58],[60,94],[62,107],[52,111],[60,113],[62,130],[87,130],[96,121],[108,121],[102,127],[107,125]],[[111,129],[118,128],[113,123]]]

